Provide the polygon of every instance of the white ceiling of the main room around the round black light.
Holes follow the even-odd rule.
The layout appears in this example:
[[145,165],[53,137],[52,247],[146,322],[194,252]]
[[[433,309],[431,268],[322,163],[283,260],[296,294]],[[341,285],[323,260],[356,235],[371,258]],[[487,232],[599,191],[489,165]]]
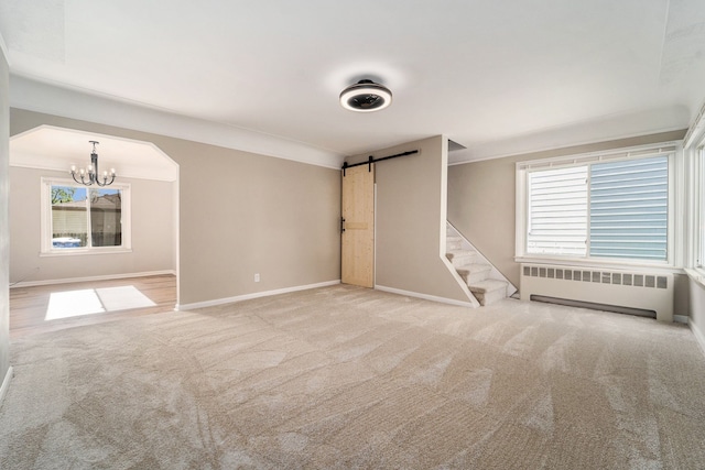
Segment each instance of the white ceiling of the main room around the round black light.
[[[443,133],[458,162],[685,129],[705,98],[703,0],[2,0],[0,33],[13,77],[335,155]],[[344,110],[360,78],[392,106]]]

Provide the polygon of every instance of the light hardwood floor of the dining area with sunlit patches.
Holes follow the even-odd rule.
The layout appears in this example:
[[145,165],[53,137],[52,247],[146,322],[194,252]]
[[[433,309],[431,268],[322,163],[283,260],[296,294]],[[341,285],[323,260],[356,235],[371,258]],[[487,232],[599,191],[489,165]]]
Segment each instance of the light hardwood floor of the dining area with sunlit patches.
[[[48,319],[52,294],[69,295],[70,292],[86,289],[110,289],[110,287],[132,286],[147,296],[154,306],[96,313],[65,318]],[[121,291],[116,291],[121,292]],[[139,296],[139,294],[137,294]],[[94,296],[94,298],[97,298]],[[119,305],[119,297],[116,297]],[[159,275],[129,277],[85,283],[52,284],[10,289],[10,339],[26,335],[56,331],[82,325],[95,325],[120,318],[138,317],[172,311],[176,305],[176,276]],[[119,307],[118,307],[119,308]]]

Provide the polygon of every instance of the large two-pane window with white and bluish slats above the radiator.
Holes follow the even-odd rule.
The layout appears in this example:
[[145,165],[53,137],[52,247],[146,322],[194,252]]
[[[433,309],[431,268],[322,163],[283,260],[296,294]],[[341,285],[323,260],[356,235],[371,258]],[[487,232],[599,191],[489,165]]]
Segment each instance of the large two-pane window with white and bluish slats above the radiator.
[[518,164],[525,192],[525,232],[518,237],[523,255],[666,262],[673,154],[657,149]]

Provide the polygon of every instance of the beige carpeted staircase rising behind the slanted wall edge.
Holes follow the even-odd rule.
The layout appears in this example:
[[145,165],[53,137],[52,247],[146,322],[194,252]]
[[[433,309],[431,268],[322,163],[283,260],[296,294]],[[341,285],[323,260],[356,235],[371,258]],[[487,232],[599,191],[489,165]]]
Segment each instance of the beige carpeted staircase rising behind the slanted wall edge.
[[480,305],[490,305],[507,297],[508,291],[512,288],[511,284],[490,277],[492,265],[485,261],[477,250],[470,248],[469,243],[464,243],[465,240],[455,229],[448,226],[446,233],[445,255]]

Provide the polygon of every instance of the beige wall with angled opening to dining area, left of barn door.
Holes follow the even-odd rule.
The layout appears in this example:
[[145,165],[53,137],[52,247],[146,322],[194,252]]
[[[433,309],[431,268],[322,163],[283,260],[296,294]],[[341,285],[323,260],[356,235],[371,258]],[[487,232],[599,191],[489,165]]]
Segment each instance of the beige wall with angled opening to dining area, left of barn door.
[[10,124],[153,142],[180,165],[181,305],[340,277],[337,170],[19,109]]

